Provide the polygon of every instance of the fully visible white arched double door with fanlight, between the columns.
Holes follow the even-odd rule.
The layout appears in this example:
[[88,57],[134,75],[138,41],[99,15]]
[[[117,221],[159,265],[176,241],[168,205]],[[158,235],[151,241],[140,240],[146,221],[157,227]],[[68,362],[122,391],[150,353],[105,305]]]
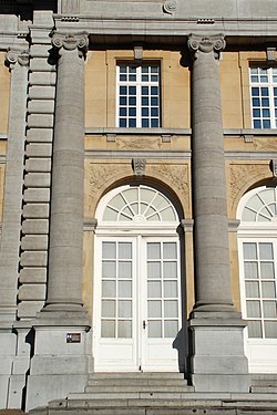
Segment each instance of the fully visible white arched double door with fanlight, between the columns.
[[96,211],[95,371],[177,371],[179,218],[156,188],[121,186]]

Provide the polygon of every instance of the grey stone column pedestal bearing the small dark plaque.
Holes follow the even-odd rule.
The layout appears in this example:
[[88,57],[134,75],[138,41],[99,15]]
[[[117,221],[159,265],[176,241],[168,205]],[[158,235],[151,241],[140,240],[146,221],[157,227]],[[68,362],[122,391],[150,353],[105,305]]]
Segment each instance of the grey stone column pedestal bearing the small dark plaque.
[[50,320],[44,320],[44,325],[42,321],[38,319],[34,325],[35,347],[28,377],[25,411],[45,406],[52,400],[66,398],[72,392],[84,392],[92,365],[91,332],[86,325],[72,324],[70,318],[65,325],[61,325],[62,320],[59,325],[53,325],[53,321],[50,325]]

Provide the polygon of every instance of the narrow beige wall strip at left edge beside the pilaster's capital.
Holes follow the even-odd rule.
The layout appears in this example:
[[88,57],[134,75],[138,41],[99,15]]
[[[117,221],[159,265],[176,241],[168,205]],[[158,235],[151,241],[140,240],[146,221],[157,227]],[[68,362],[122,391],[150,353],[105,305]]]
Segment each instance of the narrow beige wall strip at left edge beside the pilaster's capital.
[[0,134],[8,132],[9,97],[10,97],[10,72],[4,65],[6,52],[0,52]]

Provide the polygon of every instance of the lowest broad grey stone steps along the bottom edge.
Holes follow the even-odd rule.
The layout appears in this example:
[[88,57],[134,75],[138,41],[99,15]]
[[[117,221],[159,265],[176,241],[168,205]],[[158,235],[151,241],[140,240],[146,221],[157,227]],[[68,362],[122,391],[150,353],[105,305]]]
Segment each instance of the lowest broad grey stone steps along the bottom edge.
[[49,415],[57,412],[66,415],[276,415],[277,400],[268,401],[263,395],[253,398],[203,398],[189,400],[58,400],[48,408],[30,411],[30,415]]

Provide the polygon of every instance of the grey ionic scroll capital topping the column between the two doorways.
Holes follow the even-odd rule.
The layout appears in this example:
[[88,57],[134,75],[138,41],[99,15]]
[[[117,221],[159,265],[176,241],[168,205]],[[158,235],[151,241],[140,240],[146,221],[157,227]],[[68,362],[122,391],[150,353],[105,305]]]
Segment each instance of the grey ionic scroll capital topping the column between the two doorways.
[[219,56],[219,52],[226,46],[223,34],[212,37],[201,37],[197,34],[191,34],[188,37],[188,49],[194,53],[197,59],[198,52],[211,53],[214,52],[215,58]]

